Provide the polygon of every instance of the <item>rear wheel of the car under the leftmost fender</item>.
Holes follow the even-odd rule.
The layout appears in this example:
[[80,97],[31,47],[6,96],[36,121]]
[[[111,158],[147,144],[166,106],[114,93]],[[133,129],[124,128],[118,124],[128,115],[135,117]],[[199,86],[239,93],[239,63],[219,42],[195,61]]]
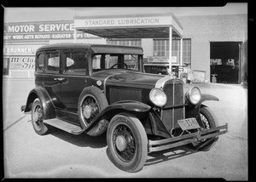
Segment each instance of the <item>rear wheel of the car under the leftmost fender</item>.
[[44,124],[44,108],[39,99],[36,99],[32,103],[32,125],[35,132],[39,135],[48,133],[48,128]]

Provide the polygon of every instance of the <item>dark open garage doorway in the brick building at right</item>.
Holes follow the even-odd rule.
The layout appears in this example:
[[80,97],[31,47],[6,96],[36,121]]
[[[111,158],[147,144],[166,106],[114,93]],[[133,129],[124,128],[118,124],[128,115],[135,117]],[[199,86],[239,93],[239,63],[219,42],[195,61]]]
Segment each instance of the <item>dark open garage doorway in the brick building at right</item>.
[[211,82],[240,83],[241,43],[210,43]]

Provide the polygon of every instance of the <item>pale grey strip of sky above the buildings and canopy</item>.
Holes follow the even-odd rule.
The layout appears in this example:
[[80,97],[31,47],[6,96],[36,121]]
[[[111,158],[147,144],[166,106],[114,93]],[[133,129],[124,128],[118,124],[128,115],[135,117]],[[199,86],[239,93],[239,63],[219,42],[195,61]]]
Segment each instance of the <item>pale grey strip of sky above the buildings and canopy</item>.
[[175,16],[207,14],[247,14],[247,3],[228,3],[224,7],[156,7],[156,8],[4,8],[4,23],[73,20],[76,15],[160,14],[172,12]]

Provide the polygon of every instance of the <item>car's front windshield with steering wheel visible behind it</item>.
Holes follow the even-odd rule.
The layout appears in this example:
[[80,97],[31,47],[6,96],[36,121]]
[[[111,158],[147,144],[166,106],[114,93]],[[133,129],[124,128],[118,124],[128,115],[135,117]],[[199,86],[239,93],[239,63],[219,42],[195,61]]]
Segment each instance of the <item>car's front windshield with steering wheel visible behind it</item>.
[[93,72],[110,69],[140,71],[141,57],[137,54],[94,54],[91,59],[92,70]]

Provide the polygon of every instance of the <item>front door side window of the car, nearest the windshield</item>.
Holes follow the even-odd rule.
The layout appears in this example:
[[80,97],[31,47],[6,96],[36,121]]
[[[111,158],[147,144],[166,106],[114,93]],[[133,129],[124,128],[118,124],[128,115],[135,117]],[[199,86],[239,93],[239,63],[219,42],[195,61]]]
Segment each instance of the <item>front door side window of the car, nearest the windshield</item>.
[[87,58],[84,50],[65,51],[64,54],[64,74],[85,75],[87,68]]

